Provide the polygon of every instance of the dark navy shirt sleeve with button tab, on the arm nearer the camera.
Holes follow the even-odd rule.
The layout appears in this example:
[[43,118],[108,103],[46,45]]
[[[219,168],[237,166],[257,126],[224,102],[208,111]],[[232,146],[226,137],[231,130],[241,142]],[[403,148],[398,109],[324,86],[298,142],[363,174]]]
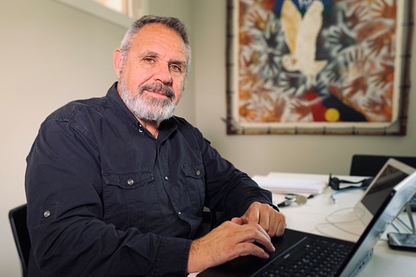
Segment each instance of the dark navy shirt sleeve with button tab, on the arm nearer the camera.
[[77,124],[42,124],[27,158],[28,229],[42,276],[184,276],[191,240],[117,229],[103,215],[100,149]]

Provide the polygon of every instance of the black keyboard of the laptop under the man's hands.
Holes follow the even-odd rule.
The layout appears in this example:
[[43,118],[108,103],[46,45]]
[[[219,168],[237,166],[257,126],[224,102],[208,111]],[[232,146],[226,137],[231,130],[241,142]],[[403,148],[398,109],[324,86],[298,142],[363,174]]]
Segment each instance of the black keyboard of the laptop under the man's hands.
[[331,277],[352,251],[352,245],[307,238],[302,247],[278,258],[265,267],[258,277]]

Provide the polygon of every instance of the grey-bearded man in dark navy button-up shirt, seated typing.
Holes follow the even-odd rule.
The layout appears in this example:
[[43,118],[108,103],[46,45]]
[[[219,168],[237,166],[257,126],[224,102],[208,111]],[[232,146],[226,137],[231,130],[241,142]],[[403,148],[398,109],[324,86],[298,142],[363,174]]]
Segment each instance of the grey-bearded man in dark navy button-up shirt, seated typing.
[[[28,276],[184,276],[274,251],[285,217],[270,192],[173,116],[190,59],[178,19],[142,17],[115,50],[106,97],[41,125],[27,159]],[[203,236],[204,206],[234,218]]]

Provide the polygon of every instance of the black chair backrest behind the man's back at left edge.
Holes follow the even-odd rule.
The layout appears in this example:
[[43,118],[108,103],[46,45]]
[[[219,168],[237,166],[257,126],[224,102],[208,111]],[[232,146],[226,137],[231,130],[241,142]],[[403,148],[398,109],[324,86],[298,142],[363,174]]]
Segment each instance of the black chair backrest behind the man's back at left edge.
[[10,225],[19,253],[23,277],[28,276],[28,260],[30,254],[30,237],[26,222],[27,204],[9,211]]

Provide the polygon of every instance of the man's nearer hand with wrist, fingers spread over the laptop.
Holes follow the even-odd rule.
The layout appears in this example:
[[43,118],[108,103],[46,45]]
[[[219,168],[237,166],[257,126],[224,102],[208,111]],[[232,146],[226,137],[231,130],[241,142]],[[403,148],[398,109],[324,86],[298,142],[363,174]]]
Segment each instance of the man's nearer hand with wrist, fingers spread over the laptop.
[[[263,245],[264,249],[253,242]],[[206,236],[191,242],[187,272],[202,271],[238,256],[269,258],[265,250],[273,252],[275,249],[264,227],[257,222],[226,221]]]

